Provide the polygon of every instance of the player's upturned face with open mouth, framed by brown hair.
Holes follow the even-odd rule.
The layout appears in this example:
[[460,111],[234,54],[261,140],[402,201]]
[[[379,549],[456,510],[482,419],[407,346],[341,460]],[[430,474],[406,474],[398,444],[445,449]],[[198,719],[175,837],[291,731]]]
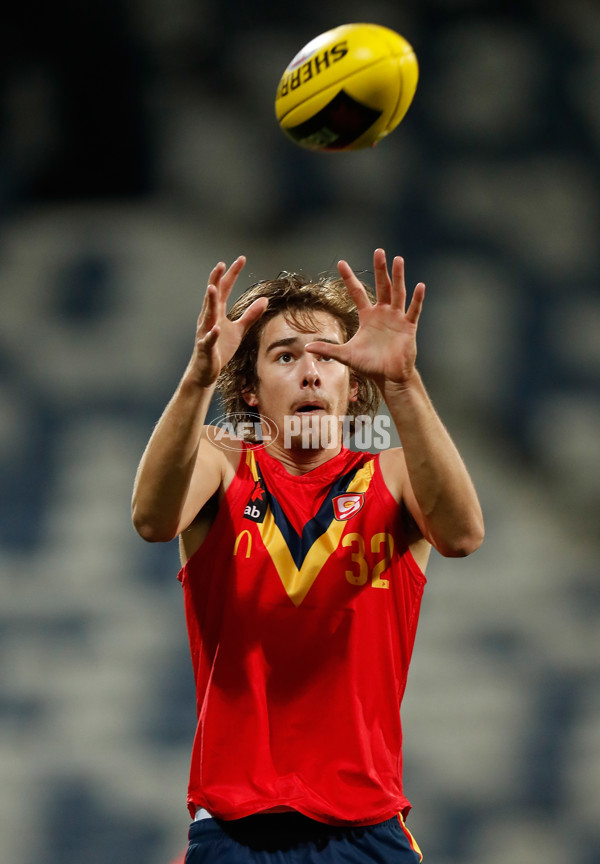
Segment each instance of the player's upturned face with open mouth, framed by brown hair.
[[287,447],[331,448],[332,434],[337,445],[348,403],[356,399],[357,385],[348,368],[305,347],[317,340],[343,342],[339,320],[322,311],[312,317],[314,329],[308,323],[305,328],[310,332],[298,330],[283,315],[267,321],[258,347],[258,386],[246,394],[249,405],[277,424]]

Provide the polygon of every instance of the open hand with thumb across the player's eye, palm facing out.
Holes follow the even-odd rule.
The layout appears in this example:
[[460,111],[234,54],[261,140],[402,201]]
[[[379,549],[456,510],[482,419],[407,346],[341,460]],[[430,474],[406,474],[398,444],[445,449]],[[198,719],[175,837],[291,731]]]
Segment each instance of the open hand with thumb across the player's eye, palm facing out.
[[310,342],[306,349],[319,356],[331,357],[355,372],[371,378],[383,389],[386,383],[405,385],[410,379],[417,357],[417,325],[425,285],[415,287],[406,309],[404,259],[396,256],[390,277],[383,249],[373,254],[376,303],[372,303],[364,286],[347,261],[338,270],[346,289],[356,303],[360,325],[354,336],[343,345]]

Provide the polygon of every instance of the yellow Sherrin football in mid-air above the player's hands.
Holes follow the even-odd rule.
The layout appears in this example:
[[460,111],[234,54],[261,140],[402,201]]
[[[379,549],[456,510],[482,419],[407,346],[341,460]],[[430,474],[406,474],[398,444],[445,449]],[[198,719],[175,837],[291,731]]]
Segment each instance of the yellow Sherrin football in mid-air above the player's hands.
[[379,24],[342,24],[312,39],[281,76],[275,114],[309,150],[372,147],[412,102],[419,67],[409,43]]

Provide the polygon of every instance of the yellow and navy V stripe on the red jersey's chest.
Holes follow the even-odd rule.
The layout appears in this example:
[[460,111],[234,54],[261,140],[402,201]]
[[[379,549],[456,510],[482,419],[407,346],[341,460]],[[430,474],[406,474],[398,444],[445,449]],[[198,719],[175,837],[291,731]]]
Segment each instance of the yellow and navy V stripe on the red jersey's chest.
[[366,492],[373,477],[374,462],[369,460],[335,480],[301,535],[267,488],[252,450],[247,451],[246,462],[255,482],[260,481],[263,486],[267,498],[264,519],[256,523],[261,539],[288,597],[295,606],[299,606],[329,556],[337,549],[346,527],[345,521],[335,518],[333,498],[345,492]]

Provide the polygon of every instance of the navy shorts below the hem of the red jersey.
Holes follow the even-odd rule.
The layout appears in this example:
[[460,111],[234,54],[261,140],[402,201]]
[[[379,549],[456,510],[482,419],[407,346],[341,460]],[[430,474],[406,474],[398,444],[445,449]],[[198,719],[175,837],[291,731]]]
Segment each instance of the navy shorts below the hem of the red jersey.
[[398,818],[340,827],[300,813],[192,822],[185,864],[419,864],[418,846]]

